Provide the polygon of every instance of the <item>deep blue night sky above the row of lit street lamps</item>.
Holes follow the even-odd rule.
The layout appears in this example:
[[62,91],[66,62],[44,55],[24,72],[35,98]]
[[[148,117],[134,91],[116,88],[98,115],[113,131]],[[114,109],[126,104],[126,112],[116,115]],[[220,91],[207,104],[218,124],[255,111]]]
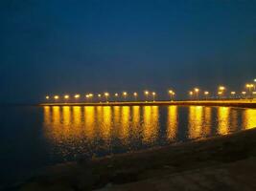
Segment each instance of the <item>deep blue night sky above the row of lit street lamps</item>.
[[0,102],[256,78],[256,1],[1,0]]

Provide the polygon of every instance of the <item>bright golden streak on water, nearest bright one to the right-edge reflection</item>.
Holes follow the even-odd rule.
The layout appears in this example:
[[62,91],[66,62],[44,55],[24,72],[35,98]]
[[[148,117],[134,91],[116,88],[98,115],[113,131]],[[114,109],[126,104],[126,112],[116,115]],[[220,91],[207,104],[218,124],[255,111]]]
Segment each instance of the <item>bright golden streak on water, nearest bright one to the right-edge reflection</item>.
[[219,107],[218,108],[218,133],[220,135],[226,135],[229,133],[229,115],[230,108],[228,107]]

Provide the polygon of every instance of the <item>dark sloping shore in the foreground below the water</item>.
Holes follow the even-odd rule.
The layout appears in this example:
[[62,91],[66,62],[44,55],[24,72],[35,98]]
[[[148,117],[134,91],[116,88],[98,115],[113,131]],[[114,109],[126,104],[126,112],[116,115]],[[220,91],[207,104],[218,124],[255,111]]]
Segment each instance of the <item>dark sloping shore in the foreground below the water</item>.
[[256,129],[49,167],[20,190],[256,190]]

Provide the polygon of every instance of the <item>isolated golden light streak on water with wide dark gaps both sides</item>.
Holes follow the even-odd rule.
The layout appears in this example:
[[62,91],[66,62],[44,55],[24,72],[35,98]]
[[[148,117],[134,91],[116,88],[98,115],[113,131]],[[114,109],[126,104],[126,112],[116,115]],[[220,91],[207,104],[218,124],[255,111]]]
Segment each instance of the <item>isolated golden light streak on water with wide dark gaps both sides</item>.
[[169,140],[175,140],[177,134],[177,125],[177,106],[169,106],[167,117],[167,138]]

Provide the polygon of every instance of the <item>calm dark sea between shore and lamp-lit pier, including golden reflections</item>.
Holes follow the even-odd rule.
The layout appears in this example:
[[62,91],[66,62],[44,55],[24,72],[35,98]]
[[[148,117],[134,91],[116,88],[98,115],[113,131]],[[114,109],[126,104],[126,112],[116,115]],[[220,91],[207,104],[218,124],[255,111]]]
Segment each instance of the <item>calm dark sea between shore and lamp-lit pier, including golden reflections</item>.
[[0,185],[24,180],[62,161],[133,152],[256,127],[255,109],[228,107],[0,109]]

